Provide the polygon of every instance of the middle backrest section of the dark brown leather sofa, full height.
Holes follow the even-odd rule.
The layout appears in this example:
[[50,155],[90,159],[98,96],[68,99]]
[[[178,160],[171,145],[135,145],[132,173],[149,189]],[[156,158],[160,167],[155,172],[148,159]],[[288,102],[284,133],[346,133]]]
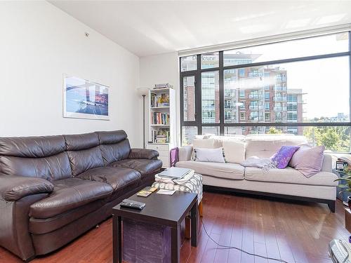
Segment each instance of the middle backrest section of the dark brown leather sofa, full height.
[[104,166],[97,133],[63,135],[63,137],[73,176]]

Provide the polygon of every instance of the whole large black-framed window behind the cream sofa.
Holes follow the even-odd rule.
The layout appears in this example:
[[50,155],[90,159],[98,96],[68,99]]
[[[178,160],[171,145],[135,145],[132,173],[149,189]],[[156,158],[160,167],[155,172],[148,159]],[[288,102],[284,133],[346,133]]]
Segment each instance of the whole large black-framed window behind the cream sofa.
[[350,151],[350,45],[343,32],[180,58],[182,143],[291,133]]

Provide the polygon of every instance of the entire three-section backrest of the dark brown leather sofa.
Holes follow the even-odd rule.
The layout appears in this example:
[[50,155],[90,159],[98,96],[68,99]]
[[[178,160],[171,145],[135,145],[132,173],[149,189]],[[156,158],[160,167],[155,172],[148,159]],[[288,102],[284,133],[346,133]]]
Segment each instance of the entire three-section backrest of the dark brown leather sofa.
[[127,159],[124,130],[38,137],[0,137],[0,173],[66,179]]

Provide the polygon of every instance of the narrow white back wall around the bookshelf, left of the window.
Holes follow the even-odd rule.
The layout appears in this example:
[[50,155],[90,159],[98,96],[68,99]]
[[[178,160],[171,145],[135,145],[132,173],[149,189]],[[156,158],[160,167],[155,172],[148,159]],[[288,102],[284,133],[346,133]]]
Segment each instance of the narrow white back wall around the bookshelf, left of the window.
[[[170,83],[176,89],[176,113],[177,113],[177,142],[180,142],[180,97],[179,97],[179,59],[178,53],[165,53],[140,58],[140,86],[152,88],[157,83]],[[146,102],[145,102],[146,103]],[[147,103],[146,103],[147,104]],[[147,108],[147,106],[145,106]],[[145,113],[145,142],[149,141],[147,129],[150,121]],[[140,119],[142,123],[142,119]],[[142,126],[141,126],[142,127]]]

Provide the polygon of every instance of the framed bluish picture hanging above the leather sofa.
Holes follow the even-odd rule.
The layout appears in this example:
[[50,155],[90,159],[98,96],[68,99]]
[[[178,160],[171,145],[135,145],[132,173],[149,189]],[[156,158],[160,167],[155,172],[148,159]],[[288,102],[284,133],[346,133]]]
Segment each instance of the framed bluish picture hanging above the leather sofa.
[[64,74],[63,116],[109,120],[109,87]]

